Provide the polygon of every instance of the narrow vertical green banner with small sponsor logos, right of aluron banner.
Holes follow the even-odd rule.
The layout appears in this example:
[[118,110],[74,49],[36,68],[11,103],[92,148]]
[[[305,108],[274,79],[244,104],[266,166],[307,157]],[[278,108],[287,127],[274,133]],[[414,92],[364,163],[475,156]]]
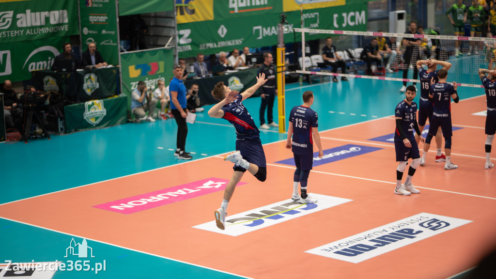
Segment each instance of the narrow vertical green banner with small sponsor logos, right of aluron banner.
[[119,65],[116,0],[80,0],[79,9],[81,51],[94,42],[107,64]]

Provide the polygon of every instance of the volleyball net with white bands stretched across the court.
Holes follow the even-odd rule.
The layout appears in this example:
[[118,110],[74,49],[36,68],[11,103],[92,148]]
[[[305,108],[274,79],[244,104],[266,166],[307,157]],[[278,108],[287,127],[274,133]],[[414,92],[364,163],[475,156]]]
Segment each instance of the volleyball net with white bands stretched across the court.
[[[427,30],[429,35],[385,33],[385,32],[359,32],[343,30],[322,30],[309,28],[288,29],[301,33],[302,55],[298,58],[300,70],[294,72],[314,76],[346,76],[355,78],[383,79],[392,81],[419,82],[413,78],[414,67],[417,61],[436,59],[451,63],[448,70],[447,81],[456,81],[459,86],[482,87],[478,70],[496,70],[496,38],[488,37],[462,37],[431,35],[435,34]],[[424,30],[426,31],[426,30]],[[336,47],[336,54],[346,65],[346,70],[337,67],[337,73],[333,73],[334,66],[330,66],[322,59],[322,48],[320,44],[318,53],[308,53],[307,41],[315,40],[314,35],[327,34],[332,38],[332,45]],[[377,44],[382,46],[388,44],[390,53],[381,55],[379,59],[372,59],[371,70],[368,70],[367,54],[364,52],[371,41],[377,38]],[[421,40],[419,46],[405,46],[406,40]],[[324,40],[325,42],[325,40]],[[372,53],[373,54],[373,53]],[[342,65],[342,64],[341,64]],[[492,66],[491,66],[492,65]],[[387,68],[387,69],[386,69]],[[437,66],[439,70],[441,66]],[[424,66],[427,70],[427,66]],[[403,71],[408,70],[407,78],[403,78]],[[401,87],[401,84],[399,84]]]

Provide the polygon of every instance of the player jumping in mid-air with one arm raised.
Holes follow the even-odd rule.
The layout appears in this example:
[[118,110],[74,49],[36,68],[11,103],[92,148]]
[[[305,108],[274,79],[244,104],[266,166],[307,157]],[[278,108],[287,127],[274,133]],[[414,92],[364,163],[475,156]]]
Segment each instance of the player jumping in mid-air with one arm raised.
[[227,206],[233,196],[236,185],[240,182],[245,171],[254,175],[259,181],[265,181],[267,167],[265,164],[265,153],[260,141],[260,131],[255,125],[253,118],[248,113],[243,101],[251,96],[258,87],[262,86],[267,79],[261,73],[256,78],[255,85],[245,92],[231,91],[224,85],[223,81],[218,82],[212,90],[212,96],[219,100],[210,110],[208,116],[214,118],[224,118],[236,128],[236,151],[230,153],[224,160],[234,163],[234,173],[224,190],[224,200],[219,209],[215,210],[215,222],[217,227],[225,229],[224,221],[227,215]]

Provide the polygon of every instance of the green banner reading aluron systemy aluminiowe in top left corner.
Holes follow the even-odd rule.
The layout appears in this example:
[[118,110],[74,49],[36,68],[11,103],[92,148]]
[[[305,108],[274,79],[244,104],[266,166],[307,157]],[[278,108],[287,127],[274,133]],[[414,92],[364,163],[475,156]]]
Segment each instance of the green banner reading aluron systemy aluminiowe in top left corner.
[[77,1],[2,2],[0,45],[79,34]]

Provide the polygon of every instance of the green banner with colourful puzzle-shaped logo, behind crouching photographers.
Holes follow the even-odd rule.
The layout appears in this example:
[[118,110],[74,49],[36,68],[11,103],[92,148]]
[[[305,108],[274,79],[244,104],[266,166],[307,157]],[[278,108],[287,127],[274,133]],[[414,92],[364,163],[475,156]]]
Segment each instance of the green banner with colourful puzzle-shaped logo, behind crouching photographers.
[[173,49],[160,48],[121,53],[122,88],[123,93],[129,97],[128,107],[131,103],[131,92],[138,87],[138,81],[144,81],[149,87],[156,86],[159,79],[169,84],[169,79],[173,76],[173,66]]

